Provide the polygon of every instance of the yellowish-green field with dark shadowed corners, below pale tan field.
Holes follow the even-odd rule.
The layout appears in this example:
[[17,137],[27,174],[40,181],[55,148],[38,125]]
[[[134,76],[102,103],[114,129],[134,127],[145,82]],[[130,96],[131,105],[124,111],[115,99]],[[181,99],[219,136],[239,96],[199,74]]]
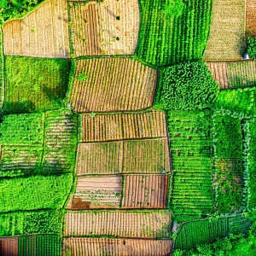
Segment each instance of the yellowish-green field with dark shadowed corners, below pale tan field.
[[58,109],[67,93],[71,61],[5,57],[5,113]]

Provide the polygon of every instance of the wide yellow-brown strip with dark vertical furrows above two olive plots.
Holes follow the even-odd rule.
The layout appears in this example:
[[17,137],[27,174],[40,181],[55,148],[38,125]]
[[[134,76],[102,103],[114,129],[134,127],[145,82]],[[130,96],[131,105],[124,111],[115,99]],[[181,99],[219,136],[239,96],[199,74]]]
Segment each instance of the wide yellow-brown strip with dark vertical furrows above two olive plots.
[[127,138],[166,137],[166,113],[97,114],[84,113],[80,120],[81,142],[101,142]]

